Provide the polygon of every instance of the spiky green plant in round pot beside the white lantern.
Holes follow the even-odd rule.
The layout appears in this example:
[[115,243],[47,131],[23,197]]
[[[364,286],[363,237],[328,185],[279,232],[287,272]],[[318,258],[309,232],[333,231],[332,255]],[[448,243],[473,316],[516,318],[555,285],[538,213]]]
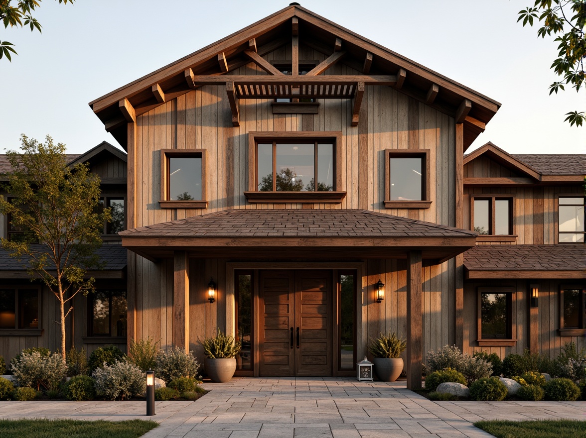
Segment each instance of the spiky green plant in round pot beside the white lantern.
[[374,372],[383,382],[394,382],[403,371],[401,353],[407,348],[407,341],[397,337],[395,333],[381,333],[376,339],[370,340],[369,351],[374,356]]

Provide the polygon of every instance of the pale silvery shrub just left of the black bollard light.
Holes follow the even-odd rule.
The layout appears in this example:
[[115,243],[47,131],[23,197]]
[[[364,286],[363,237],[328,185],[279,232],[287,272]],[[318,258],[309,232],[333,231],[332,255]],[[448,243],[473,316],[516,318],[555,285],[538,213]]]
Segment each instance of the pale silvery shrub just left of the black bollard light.
[[127,361],[97,368],[91,375],[96,379],[96,393],[107,400],[124,400],[145,393],[147,377],[140,368]]

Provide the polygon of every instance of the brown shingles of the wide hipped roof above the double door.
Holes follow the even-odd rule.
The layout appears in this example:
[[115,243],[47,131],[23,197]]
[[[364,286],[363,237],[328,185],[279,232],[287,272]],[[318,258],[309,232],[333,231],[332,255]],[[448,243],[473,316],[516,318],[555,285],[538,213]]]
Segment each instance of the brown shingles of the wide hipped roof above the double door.
[[476,233],[367,210],[226,210],[134,228],[122,237],[472,237]]

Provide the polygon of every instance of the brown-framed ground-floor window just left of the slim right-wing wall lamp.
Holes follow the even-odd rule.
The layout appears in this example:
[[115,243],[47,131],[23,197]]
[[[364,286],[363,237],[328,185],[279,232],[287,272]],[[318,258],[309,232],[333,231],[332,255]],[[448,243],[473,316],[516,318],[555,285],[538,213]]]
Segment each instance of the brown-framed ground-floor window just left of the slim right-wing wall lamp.
[[478,344],[515,345],[515,290],[478,288]]

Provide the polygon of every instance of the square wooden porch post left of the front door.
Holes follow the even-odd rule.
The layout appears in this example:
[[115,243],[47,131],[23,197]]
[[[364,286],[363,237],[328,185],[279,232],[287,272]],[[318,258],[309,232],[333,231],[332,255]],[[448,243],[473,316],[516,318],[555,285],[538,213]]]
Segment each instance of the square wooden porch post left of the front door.
[[173,252],[173,346],[189,351],[189,259]]

